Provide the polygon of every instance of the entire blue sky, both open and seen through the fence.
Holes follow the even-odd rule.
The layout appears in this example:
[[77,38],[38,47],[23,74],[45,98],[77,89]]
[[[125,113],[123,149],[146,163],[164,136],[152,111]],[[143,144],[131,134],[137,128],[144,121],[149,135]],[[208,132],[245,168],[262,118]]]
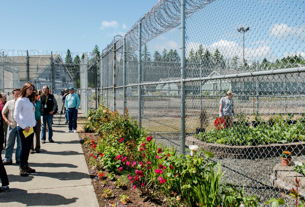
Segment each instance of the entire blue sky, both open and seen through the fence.
[[[114,35],[126,33],[157,2],[3,1],[0,7],[0,49],[60,52],[70,49],[71,52],[82,53],[92,51],[97,44],[102,51]],[[172,4],[167,6],[167,11],[175,10]],[[154,18],[164,25],[179,16],[180,7],[176,7],[178,13],[171,15],[170,12],[163,12]],[[242,60],[243,34],[237,32],[237,28],[249,26],[244,42],[246,60],[262,61],[267,58],[275,61],[293,54],[305,57],[304,8],[303,0],[211,1],[186,19],[186,56],[191,49],[196,51],[202,44],[212,53],[218,49],[225,59],[237,55]],[[159,28],[155,19],[153,22],[153,25],[146,26]],[[147,37],[145,32],[142,34]],[[167,51],[177,50],[180,54],[180,25],[144,43],[151,55],[155,51],[162,53],[164,48]]]

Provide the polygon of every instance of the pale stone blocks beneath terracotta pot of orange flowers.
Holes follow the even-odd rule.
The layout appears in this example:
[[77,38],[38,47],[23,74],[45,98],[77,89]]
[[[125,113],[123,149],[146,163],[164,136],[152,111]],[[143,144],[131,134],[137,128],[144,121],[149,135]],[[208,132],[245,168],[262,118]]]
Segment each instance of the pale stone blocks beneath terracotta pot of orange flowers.
[[[301,160],[300,162],[305,162]],[[273,174],[270,177],[271,183],[275,189],[285,191],[286,194],[291,193],[290,189],[295,188],[296,177],[300,179],[299,195],[305,197],[305,178],[302,174],[293,170],[293,166],[282,166],[276,164],[273,168]]]

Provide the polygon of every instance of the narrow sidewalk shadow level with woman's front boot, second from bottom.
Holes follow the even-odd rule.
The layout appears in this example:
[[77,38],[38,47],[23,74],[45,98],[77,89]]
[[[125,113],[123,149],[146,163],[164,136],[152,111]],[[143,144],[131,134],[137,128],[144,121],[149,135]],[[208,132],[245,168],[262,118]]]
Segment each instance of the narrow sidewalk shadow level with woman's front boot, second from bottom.
[[89,174],[87,174],[87,173],[80,173],[80,172],[73,172],[73,171],[72,172],[57,172],[57,173],[35,172],[35,173],[31,173],[31,175],[56,178],[61,181],[81,180],[83,178],[89,177]]

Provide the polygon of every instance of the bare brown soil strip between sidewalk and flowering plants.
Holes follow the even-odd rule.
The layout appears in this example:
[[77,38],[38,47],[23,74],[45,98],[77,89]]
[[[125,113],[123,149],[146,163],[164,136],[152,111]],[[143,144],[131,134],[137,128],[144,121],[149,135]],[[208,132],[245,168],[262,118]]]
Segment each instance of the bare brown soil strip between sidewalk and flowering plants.
[[[156,197],[146,197],[146,195],[142,194],[142,192],[138,189],[132,189],[132,185],[128,181],[126,176],[124,175],[116,175],[114,180],[121,179],[124,183],[124,186],[121,188],[116,188],[114,185],[114,180],[111,181],[108,178],[109,172],[106,170],[103,170],[102,173],[104,174],[102,177],[97,176],[96,178],[96,169],[94,166],[88,163],[90,159],[90,151],[87,146],[83,145],[83,139],[84,137],[89,137],[90,133],[79,133],[80,136],[80,142],[83,149],[83,153],[86,159],[88,171],[91,177],[91,182],[94,187],[96,198],[99,202],[100,207],[114,207],[114,206],[141,206],[141,207],[153,207],[153,206],[169,206],[167,202],[163,202],[163,195],[157,195]],[[94,140],[95,143],[97,143],[99,139],[99,136],[94,135],[91,133],[90,140]],[[109,188],[113,192],[113,197],[106,198],[103,194],[103,190],[105,188]],[[130,201],[127,202],[127,204],[123,204],[120,201],[121,195],[127,195],[129,196]]]

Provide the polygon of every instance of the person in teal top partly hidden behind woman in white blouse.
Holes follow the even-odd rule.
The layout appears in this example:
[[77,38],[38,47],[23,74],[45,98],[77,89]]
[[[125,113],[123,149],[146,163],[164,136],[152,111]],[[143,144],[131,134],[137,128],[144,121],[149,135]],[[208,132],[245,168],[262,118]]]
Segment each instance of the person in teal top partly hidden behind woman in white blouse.
[[[36,153],[40,153],[40,132],[41,132],[41,103],[37,99],[38,91],[34,90],[33,93],[35,94],[35,100],[33,104],[35,105],[35,119],[36,119],[36,126],[35,126],[35,136],[36,136],[36,145],[34,149],[34,140],[32,142],[30,154],[34,154],[34,150]],[[33,137],[34,139],[34,137]]]

